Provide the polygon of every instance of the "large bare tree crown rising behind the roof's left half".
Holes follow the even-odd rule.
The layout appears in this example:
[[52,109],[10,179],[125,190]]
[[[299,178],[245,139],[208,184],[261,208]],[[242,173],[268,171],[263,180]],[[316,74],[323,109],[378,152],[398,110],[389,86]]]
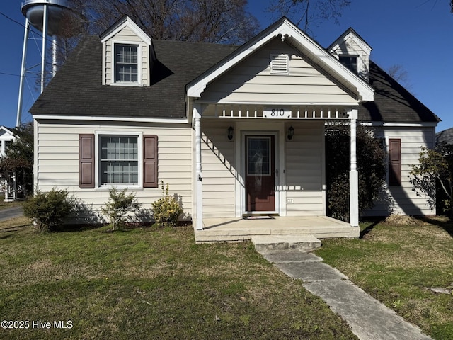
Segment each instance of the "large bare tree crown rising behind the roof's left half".
[[86,0],[81,1],[90,33],[101,33],[129,16],[152,39],[241,44],[258,21],[246,0]]

